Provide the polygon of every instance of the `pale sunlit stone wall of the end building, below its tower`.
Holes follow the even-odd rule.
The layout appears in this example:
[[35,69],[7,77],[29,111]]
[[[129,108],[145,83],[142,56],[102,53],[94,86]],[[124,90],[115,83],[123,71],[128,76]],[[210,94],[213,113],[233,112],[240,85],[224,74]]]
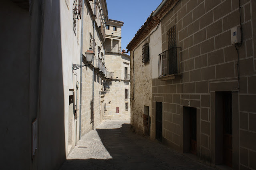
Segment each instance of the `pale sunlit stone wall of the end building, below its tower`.
[[[130,73],[130,57],[119,53],[106,53],[105,62],[108,71],[113,72],[114,79],[107,80],[111,89],[105,95],[106,109],[104,119],[124,120],[131,117],[130,95],[125,99],[125,89],[131,93],[130,80],[125,80],[125,67],[127,74]],[[125,103],[128,103],[128,110],[125,110]],[[119,113],[116,109],[119,107]]]

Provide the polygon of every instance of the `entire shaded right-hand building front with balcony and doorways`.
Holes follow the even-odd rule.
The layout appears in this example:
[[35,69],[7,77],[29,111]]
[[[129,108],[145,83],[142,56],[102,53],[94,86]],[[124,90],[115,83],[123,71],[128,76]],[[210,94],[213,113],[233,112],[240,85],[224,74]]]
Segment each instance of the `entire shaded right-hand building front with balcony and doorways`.
[[[136,132],[149,128],[151,139],[212,166],[256,168],[255,8],[250,0],[163,0],[127,45]],[[242,42],[232,44],[241,26]]]

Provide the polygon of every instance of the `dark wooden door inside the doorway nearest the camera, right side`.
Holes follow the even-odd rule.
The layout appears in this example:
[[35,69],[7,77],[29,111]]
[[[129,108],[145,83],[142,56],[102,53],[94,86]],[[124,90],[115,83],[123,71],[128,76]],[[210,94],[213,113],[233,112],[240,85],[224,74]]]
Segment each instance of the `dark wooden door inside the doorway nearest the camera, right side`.
[[223,98],[223,158],[232,167],[232,93],[224,93]]

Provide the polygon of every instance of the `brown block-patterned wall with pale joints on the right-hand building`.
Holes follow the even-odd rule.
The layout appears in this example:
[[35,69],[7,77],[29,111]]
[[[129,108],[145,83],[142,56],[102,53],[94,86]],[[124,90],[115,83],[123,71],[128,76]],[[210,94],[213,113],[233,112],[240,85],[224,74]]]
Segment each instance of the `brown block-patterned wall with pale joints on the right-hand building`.
[[168,46],[167,31],[176,25],[182,78],[153,79],[152,113],[155,102],[163,102],[163,142],[182,152],[183,107],[197,108],[197,156],[214,163],[216,92],[232,91],[233,168],[242,169],[256,168],[252,161],[256,154],[256,2],[240,1],[243,42],[237,46],[239,63],[230,40],[230,29],[240,26],[238,2],[181,0],[163,18],[162,51]]

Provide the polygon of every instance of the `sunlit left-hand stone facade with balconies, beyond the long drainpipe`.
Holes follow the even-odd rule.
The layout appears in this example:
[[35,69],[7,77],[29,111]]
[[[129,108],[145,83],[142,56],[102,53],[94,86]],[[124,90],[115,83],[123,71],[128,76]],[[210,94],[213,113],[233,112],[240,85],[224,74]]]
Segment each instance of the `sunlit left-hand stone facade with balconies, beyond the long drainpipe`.
[[85,52],[89,48],[93,49],[95,56],[89,67],[82,68],[82,135],[94,129],[102,121],[104,111],[103,103],[105,97],[103,81],[107,75],[107,68],[105,67],[104,61],[104,20],[108,20],[107,16],[107,4],[105,0],[85,1],[83,64],[88,64]]

